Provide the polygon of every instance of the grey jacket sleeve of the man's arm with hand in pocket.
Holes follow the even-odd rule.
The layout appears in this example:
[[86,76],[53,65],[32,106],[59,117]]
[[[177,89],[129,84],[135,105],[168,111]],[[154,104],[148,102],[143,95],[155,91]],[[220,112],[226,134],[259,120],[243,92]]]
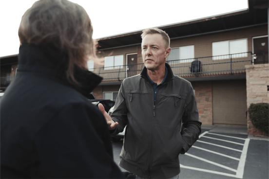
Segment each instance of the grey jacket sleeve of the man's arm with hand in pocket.
[[202,124],[199,121],[195,95],[191,84],[190,91],[186,99],[186,105],[184,107],[182,123],[181,136],[183,140],[183,149],[180,153],[184,154],[189,150],[192,144],[198,140]]

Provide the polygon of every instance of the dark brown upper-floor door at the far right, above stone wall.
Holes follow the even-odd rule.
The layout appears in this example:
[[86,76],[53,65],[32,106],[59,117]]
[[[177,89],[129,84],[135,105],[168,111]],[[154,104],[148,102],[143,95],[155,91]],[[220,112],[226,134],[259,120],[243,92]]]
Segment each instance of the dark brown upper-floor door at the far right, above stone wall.
[[254,64],[268,63],[268,37],[253,38]]

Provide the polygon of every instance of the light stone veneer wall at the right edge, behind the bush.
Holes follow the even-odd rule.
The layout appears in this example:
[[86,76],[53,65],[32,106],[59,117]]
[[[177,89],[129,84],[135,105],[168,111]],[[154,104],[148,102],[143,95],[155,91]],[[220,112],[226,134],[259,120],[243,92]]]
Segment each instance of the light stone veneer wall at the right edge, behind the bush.
[[[246,65],[246,79],[247,107],[249,108],[251,103],[269,103],[269,64]],[[248,132],[251,135],[268,135],[253,126],[249,115],[247,125]]]

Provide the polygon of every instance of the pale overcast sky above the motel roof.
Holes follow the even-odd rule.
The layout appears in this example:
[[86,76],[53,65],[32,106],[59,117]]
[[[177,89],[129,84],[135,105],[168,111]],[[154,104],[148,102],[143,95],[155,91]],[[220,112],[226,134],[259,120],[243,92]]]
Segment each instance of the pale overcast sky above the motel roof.
[[[36,0],[0,0],[0,57],[19,53],[21,16]],[[94,38],[248,8],[248,0],[71,0],[88,12]]]

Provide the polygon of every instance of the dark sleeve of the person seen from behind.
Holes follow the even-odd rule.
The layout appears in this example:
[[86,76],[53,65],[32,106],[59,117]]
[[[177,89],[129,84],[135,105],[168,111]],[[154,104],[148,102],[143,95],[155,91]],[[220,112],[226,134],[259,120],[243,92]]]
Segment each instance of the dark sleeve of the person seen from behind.
[[105,119],[91,104],[71,104],[61,109],[38,131],[35,148],[37,176],[123,178],[113,160]]

